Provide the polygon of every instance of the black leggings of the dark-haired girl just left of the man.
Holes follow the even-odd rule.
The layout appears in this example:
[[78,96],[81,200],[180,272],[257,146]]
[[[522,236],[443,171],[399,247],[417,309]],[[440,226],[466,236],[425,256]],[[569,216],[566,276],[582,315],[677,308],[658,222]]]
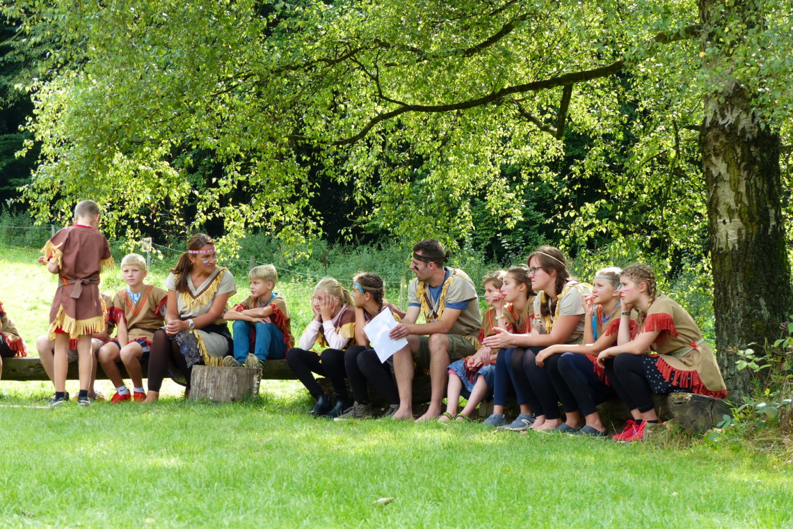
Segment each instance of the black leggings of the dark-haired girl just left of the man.
[[399,404],[399,390],[391,366],[389,362],[380,362],[374,349],[361,345],[347,347],[344,366],[347,368],[353,398],[359,404],[369,404],[369,384],[381,393],[386,402]]

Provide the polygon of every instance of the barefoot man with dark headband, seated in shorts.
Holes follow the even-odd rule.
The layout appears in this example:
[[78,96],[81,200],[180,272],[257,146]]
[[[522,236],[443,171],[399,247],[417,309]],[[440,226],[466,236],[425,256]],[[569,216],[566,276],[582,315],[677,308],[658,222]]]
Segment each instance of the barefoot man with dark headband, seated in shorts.
[[[443,266],[448,259],[449,252],[435,239],[422,240],[413,247],[410,269],[416,278],[408,286],[408,312],[390,333],[393,339],[408,339],[408,346],[393,357],[400,396],[394,419],[413,418],[416,367],[429,371],[432,387],[430,407],[416,421],[439,416],[450,362],[473,355],[481,347],[477,342],[482,320],[477,289],[465,272]],[[426,323],[416,324],[419,315]]]

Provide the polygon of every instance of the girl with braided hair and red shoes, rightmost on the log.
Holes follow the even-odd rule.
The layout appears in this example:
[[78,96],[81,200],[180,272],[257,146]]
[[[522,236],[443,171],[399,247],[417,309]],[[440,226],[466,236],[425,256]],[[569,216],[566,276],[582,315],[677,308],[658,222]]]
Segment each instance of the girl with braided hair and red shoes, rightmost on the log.
[[[699,393],[723,399],[727,389],[699,326],[685,309],[657,292],[652,268],[628,266],[619,284],[623,310],[618,343],[622,345],[601,351],[597,361],[634,416],[612,439],[630,443],[644,439],[647,423],[658,422],[653,393]],[[633,309],[638,311],[639,332],[627,341]]]

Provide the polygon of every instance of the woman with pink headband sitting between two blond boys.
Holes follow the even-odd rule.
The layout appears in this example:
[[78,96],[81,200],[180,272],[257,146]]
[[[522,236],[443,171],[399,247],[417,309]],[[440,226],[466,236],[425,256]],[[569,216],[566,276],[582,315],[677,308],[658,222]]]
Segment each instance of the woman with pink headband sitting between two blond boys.
[[232,351],[232,335],[223,315],[237,289],[232,273],[216,263],[215,242],[198,233],[190,237],[187,251],[170,270],[165,280],[166,325],[152,339],[145,402],[159,399],[169,366],[172,376],[185,378],[190,389],[194,365],[220,366]]

